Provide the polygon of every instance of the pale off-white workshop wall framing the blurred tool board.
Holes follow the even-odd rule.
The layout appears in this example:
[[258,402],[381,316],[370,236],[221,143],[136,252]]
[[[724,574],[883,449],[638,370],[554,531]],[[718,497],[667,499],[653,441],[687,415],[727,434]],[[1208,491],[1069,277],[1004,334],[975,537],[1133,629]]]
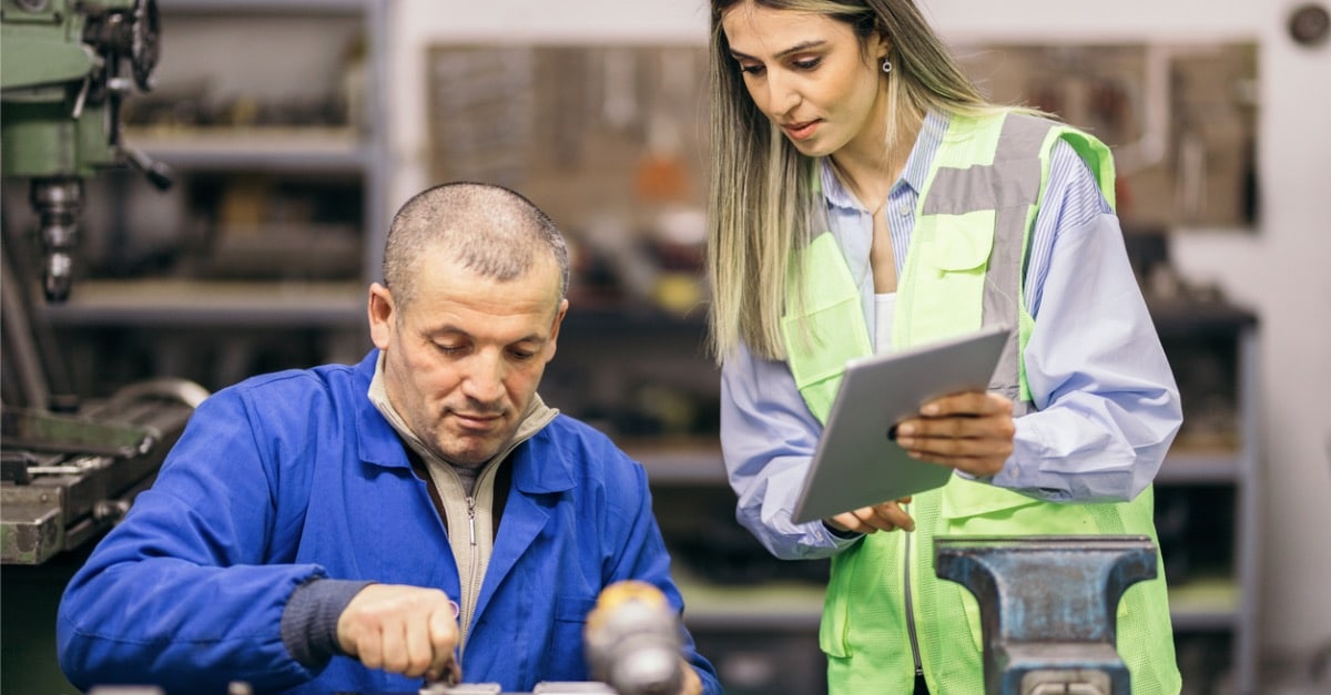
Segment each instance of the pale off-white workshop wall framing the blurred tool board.
[[[933,0],[928,13],[957,44],[1256,43],[1260,181],[1255,226],[1171,229],[1170,256],[1194,284],[1214,284],[1259,318],[1258,399],[1264,495],[1263,652],[1307,663],[1331,643],[1331,229],[1323,174],[1331,44],[1296,45],[1275,0]],[[427,65],[441,44],[701,44],[707,5],[688,1],[399,0],[391,20],[390,208],[431,180]],[[562,355],[564,353],[562,351]]]

